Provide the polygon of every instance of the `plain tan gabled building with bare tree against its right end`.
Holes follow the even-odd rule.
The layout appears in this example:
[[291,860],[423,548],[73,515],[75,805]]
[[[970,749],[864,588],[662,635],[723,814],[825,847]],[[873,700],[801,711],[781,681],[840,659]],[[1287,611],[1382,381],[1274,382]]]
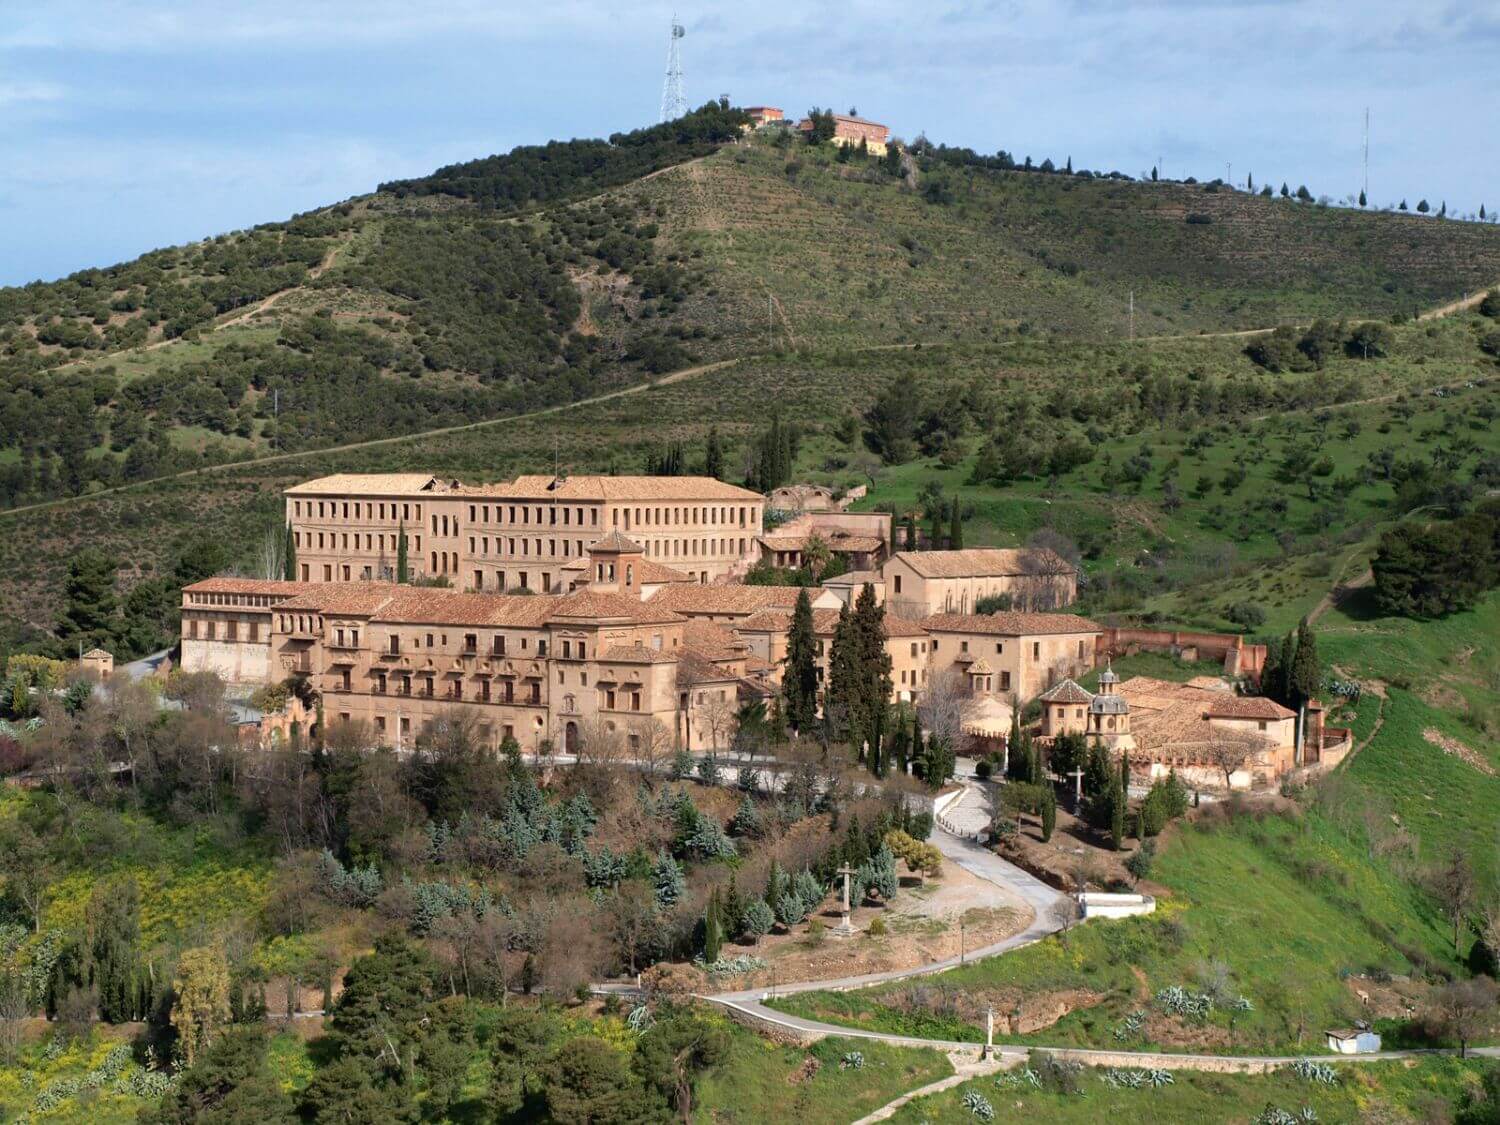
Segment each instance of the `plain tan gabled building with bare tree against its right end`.
[[1078,596],[1077,568],[1046,548],[897,550],[880,573],[886,604],[903,616],[974,614],[999,594],[1012,609],[1052,610]]

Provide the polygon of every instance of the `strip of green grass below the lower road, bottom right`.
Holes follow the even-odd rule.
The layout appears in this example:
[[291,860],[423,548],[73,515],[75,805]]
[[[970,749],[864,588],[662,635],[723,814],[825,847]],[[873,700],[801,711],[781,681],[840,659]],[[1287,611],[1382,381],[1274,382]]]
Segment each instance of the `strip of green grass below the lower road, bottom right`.
[[[963,1106],[964,1094],[982,1095],[998,1122],[1250,1122],[1266,1106],[1298,1113],[1310,1106],[1323,1125],[1371,1120],[1448,1120],[1448,1110],[1478,1089],[1486,1064],[1425,1059],[1413,1066],[1377,1064],[1348,1066],[1336,1086],[1322,1086],[1286,1071],[1274,1074],[1202,1074],[1176,1071],[1161,1089],[1114,1089],[1102,1070],[1086,1070],[1080,1092],[1042,1092],[1026,1086],[998,1086],[994,1077],[974,1078],[942,1094],[903,1106],[898,1125],[972,1125],[976,1118]],[[1002,1078],[1005,1082],[1005,1078]]]

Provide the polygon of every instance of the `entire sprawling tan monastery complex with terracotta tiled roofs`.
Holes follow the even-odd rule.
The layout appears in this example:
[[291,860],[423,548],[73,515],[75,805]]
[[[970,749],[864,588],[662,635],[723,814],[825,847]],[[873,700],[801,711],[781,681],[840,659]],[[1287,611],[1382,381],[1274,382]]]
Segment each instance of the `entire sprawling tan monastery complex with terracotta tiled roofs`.
[[[182,604],[184,669],[294,686],[262,720],[273,741],[321,718],[400,750],[462,711],[496,747],[576,753],[602,730],[639,753],[724,748],[741,705],[777,693],[801,592],[742,578],[800,566],[820,540],[855,567],[807,591],[820,682],[838,614],[868,586],[892,702],[958,693],[986,717],[972,728],[986,748],[1040,699],[1044,738],[1084,734],[1148,776],[1191,771],[1224,724],[1257,741],[1238,783],[1296,764],[1293,712],[1224,681],[1106,670],[1098,694],[1082,688],[1113,630],[1060,612],[1077,573],[1050,550],[891,552],[890,514],[836,504],[798,504],[768,530],[765,496],[705,477],[336,476],[285,501],[298,578],[210,578]],[[1026,609],[976,612],[998,594]]]

